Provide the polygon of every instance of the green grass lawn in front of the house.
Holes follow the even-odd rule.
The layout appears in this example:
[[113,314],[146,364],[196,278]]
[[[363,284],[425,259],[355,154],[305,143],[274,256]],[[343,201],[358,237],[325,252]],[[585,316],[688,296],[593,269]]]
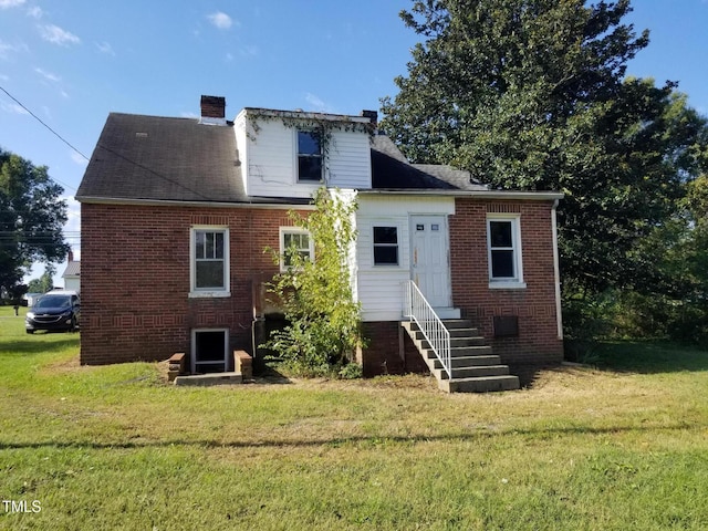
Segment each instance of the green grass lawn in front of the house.
[[160,364],[82,367],[79,342],[0,306],[0,529],[708,529],[706,351],[608,344],[446,395],[174,387]]

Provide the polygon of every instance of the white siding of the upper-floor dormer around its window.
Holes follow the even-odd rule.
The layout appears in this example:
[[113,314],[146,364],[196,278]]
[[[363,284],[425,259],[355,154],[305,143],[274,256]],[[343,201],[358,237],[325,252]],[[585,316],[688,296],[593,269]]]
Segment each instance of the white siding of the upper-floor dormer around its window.
[[[241,171],[249,196],[311,197],[322,184],[298,183],[296,128],[279,117],[236,122]],[[333,131],[325,150],[325,180],[337,188],[371,188],[371,150],[365,132]]]

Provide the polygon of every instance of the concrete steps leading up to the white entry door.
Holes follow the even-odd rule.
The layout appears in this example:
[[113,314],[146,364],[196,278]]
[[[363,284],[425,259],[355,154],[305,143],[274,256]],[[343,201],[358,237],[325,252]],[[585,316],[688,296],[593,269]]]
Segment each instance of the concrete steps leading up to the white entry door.
[[519,377],[509,374],[509,366],[501,363],[501,358],[492,353],[491,346],[486,344],[469,320],[442,320],[450,333],[450,364],[451,377],[442,368],[423,332],[415,323],[403,321],[400,325],[406,330],[418,352],[437,378],[438,387],[447,393],[488,393],[492,391],[519,389]]

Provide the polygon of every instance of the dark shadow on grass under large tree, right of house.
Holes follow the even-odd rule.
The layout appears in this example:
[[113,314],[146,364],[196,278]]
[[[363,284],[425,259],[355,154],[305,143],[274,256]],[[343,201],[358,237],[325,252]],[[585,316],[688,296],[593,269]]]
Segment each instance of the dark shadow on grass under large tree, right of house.
[[657,341],[615,341],[593,345],[584,363],[601,371],[659,374],[708,371],[708,351]]

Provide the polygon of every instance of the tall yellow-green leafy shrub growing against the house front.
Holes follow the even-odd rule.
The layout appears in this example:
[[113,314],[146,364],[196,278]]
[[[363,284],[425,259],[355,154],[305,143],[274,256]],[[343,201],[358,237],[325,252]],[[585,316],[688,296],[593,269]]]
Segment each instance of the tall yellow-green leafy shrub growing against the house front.
[[290,212],[293,223],[313,238],[314,260],[294,244],[284,257],[269,250],[275,263],[289,264],[270,284],[288,325],[274,331],[263,346],[305,374],[326,374],[351,362],[363,342],[348,260],[356,240],[356,202],[320,188],[314,204],[308,216]]

